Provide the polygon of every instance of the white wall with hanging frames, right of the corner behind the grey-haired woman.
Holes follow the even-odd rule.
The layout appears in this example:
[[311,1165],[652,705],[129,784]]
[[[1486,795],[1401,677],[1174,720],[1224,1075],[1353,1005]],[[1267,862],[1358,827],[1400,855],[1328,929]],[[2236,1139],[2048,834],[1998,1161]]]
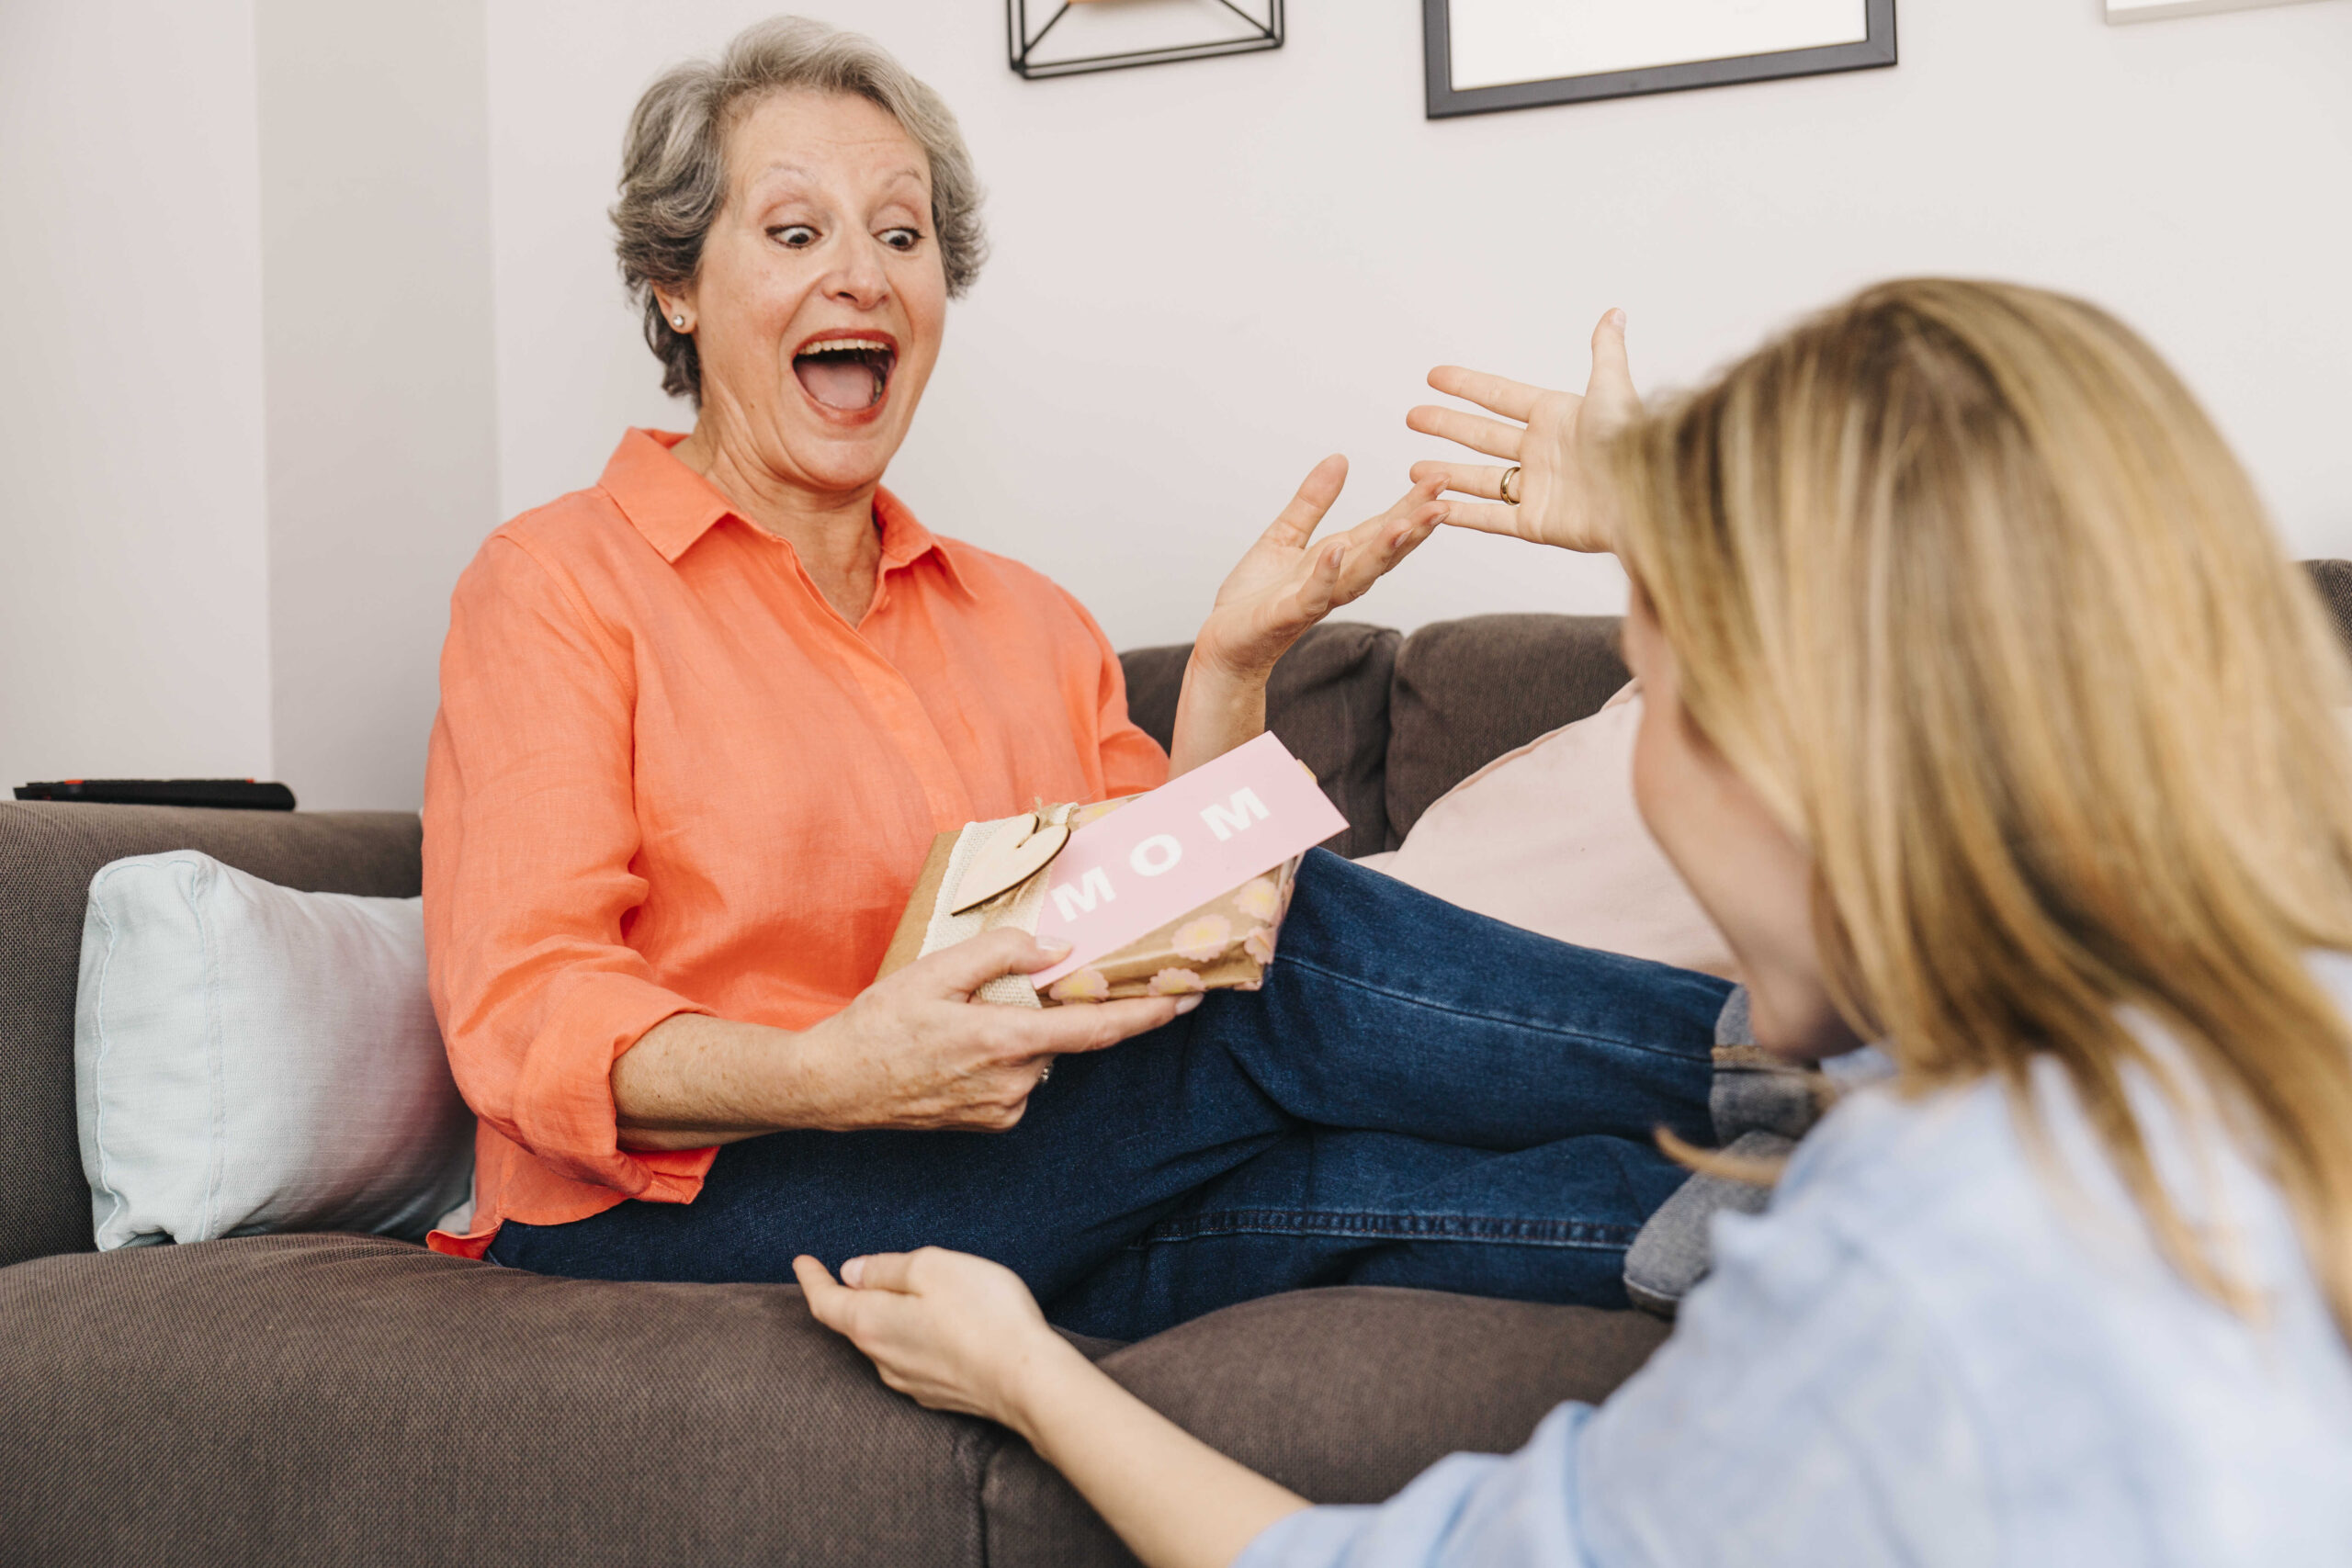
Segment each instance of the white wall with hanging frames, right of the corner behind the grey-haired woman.
[[[1023,82],[997,0],[797,0],[964,120],[995,261],[894,487],[1054,571],[1120,644],[1188,637],[1324,451],[1352,522],[1432,444],[1461,360],[1581,383],[1606,306],[1700,376],[1893,273],[2084,292],[2239,444],[2288,543],[2352,555],[2352,2],[2112,28],[2098,0],[1903,0],[1893,71],[1428,122],[1418,0],[1291,0],[1284,49]],[[612,270],[623,118],[774,0],[499,0],[489,16],[508,512],[682,425]],[[1446,536],[1355,616],[1613,609],[1606,562]]]

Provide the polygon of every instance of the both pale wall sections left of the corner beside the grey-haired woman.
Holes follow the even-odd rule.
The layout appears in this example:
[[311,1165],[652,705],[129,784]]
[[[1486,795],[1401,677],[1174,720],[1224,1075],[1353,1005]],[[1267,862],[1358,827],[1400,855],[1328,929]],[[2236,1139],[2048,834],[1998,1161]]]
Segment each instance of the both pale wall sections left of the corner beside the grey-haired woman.
[[0,785],[409,806],[496,524],[480,0],[0,0]]

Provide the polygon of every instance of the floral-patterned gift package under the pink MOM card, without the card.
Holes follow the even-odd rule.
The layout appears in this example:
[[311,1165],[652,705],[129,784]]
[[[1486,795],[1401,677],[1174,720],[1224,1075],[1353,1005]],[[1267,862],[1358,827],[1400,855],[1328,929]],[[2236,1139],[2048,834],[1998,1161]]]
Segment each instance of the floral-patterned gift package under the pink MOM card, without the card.
[[[898,933],[882,959],[882,973],[913,964],[917,957],[938,952],[953,943],[974,938],[1000,926],[1037,929],[1037,912],[1044,905],[1051,858],[1035,870],[1025,870],[1018,849],[1025,844],[1044,851],[1044,839],[1094,823],[1117,811],[1129,799],[1096,802],[1091,806],[1042,806],[1023,818],[995,823],[971,823],[960,832],[943,832],[931,842],[931,853],[908,898]],[[1058,849],[1061,839],[1051,839]],[[995,865],[990,846],[997,846]],[[1007,849],[1009,846],[1009,849]],[[1303,856],[1291,856],[1240,886],[1188,910],[1183,917],[1150,931],[1124,947],[1117,947],[1082,969],[1054,980],[1040,992],[1025,976],[1002,976],[981,987],[988,1001],[1011,1006],[1056,1006],[1070,1001],[1110,1001],[1115,997],[1183,997],[1207,990],[1258,990],[1265,966],[1275,961],[1275,936],[1282,917],[1291,907],[1291,882]],[[1007,863],[1009,860],[1009,863]],[[1007,875],[1023,872],[1016,882],[969,907],[976,877],[978,891],[988,891]],[[990,875],[995,872],[995,875]],[[967,898],[960,898],[964,893]]]

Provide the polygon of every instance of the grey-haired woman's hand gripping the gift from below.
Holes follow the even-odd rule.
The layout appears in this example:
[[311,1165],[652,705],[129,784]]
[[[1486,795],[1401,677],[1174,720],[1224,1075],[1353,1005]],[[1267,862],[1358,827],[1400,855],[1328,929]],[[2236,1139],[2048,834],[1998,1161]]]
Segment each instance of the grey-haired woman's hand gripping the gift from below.
[[1023,931],[988,931],[868,985],[811,1030],[821,1037],[811,1056],[826,1065],[828,1103],[811,1126],[1002,1133],[1021,1121],[1056,1056],[1115,1046],[1200,1004],[1200,997],[1049,1009],[974,1001],[997,976],[1035,973],[1063,952]]

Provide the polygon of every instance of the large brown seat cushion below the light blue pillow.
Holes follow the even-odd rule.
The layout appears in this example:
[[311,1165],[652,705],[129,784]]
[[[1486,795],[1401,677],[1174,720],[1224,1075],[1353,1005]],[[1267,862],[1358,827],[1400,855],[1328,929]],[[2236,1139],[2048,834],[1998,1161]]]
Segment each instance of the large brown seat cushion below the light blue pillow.
[[793,1286],[254,1237],[16,1265],[0,1324],[5,1561],[981,1561],[997,1429]]

